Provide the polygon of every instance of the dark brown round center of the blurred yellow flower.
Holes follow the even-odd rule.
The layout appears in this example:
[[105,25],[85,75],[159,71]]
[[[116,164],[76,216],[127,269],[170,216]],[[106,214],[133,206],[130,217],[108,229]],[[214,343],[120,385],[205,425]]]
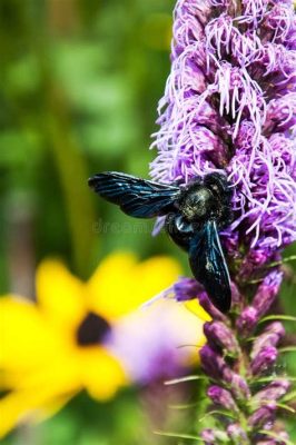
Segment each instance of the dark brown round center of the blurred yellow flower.
[[76,338],[79,346],[97,345],[103,342],[110,330],[105,318],[89,313],[77,329]]

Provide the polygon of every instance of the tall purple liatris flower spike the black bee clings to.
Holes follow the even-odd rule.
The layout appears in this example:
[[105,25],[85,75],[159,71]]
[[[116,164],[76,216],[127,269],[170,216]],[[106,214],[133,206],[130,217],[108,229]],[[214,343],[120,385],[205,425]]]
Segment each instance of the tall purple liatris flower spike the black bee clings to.
[[198,297],[213,317],[201,366],[211,403],[231,416],[218,417],[220,431],[201,433],[205,444],[287,443],[276,417],[289,383],[273,374],[284,328],[258,323],[283,279],[273,265],[296,239],[295,50],[292,0],[177,1],[151,176],[188,182],[220,171],[234,190],[234,221],[220,234],[233,280],[229,317],[194,279],[165,293]]

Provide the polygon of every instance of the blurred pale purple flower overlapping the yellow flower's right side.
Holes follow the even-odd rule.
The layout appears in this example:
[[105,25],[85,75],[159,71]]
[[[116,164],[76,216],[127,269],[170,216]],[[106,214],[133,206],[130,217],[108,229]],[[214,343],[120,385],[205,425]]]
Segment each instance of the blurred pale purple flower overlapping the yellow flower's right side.
[[122,317],[108,347],[130,378],[145,385],[186,374],[203,343],[200,319],[182,305],[160,300]]

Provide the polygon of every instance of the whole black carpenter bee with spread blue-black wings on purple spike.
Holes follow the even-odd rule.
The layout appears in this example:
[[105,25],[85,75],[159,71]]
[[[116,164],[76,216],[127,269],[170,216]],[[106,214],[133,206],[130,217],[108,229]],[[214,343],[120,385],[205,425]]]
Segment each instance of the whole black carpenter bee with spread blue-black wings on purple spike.
[[195,278],[220,312],[229,310],[230,278],[218,235],[231,222],[231,191],[224,175],[213,172],[179,186],[106,171],[88,184],[129,216],[166,216],[166,230],[188,253]]

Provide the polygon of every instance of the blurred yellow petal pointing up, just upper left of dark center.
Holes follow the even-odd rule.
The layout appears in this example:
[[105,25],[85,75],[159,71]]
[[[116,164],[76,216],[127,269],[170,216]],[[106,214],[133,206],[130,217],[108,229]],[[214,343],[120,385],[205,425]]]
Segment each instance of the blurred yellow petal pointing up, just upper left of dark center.
[[86,313],[86,286],[53,259],[37,270],[37,295],[43,313],[56,325],[77,326]]

